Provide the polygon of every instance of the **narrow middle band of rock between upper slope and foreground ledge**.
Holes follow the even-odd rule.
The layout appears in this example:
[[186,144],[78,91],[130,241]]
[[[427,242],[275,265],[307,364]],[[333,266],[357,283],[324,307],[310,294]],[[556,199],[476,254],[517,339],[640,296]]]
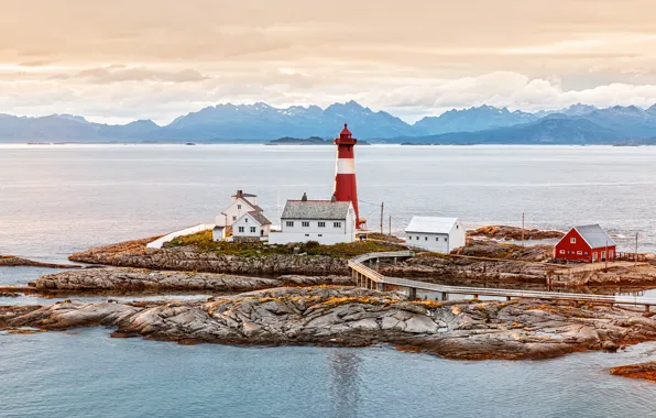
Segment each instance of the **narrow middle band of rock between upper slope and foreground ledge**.
[[72,292],[249,292],[280,286],[349,285],[350,276],[245,277],[217,273],[156,272],[107,267],[66,271],[40,277],[35,287],[44,293]]

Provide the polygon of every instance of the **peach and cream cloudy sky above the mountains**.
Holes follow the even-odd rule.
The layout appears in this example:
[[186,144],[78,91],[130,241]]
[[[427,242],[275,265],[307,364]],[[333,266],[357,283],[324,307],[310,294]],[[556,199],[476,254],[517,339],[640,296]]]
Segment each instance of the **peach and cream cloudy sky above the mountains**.
[[0,0],[0,113],[656,102],[654,0]]

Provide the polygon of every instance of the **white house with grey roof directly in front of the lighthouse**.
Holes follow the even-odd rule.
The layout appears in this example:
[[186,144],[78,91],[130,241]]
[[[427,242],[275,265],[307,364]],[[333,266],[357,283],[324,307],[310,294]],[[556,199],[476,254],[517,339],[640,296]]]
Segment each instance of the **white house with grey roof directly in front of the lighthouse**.
[[354,241],[356,211],[350,201],[287,200],[281,216],[281,231],[269,234],[270,244],[317,241],[332,245]]

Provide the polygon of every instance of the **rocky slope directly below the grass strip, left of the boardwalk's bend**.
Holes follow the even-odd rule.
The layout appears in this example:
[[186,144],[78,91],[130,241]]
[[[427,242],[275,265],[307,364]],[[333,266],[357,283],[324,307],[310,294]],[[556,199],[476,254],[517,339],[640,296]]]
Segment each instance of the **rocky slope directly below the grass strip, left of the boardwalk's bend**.
[[345,258],[319,255],[226,255],[201,252],[193,246],[155,250],[145,246],[152,239],[95,248],[75,253],[68,258],[75,262],[120,267],[239,275],[346,276],[349,274]]

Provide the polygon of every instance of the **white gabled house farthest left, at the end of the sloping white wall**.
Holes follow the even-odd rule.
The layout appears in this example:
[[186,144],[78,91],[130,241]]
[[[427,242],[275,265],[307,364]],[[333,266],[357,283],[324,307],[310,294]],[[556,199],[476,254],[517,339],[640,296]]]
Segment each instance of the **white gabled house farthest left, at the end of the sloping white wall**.
[[[230,205],[217,216],[216,227],[212,230],[212,240],[223,241],[232,237],[234,234],[234,229],[232,227],[240,220],[243,223],[241,227],[243,227],[245,231],[245,233],[241,237],[250,235],[251,227],[256,228],[252,237],[269,235],[271,222],[264,218],[264,215],[262,213],[263,209],[258,206],[258,196],[244,194],[243,190],[237,190],[237,194],[232,195],[231,197],[232,201]],[[256,219],[256,216],[253,216],[253,212],[260,213],[263,219],[260,219],[258,221],[259,224],[256,226],[245,226],[248,222],[247,219],[243,219],[247,213],[250,213],[251,218],[255,217],[253,220]]]

